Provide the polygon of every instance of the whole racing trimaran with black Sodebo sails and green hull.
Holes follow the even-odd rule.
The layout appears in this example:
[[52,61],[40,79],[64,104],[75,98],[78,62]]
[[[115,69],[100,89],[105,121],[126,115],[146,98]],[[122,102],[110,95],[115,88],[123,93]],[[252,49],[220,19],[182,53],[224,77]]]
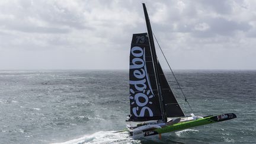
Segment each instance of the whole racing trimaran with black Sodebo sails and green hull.
[[[148,33],[133,34],[130,49],[130,114],[127,129],[133,138],[148,137],[236,118],[233,113],[217,116],[185,116],[174,97],[156,56],[151,24],[143,4]],[[185,99],[186,101],[186,99]]]

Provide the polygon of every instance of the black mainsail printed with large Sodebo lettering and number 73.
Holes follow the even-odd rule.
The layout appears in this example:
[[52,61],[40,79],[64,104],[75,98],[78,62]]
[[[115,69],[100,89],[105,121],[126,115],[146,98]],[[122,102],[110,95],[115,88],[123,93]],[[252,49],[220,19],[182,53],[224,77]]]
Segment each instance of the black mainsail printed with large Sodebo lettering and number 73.
[[147,33],[133,34],[129,80],[130,120],[162,119]]

